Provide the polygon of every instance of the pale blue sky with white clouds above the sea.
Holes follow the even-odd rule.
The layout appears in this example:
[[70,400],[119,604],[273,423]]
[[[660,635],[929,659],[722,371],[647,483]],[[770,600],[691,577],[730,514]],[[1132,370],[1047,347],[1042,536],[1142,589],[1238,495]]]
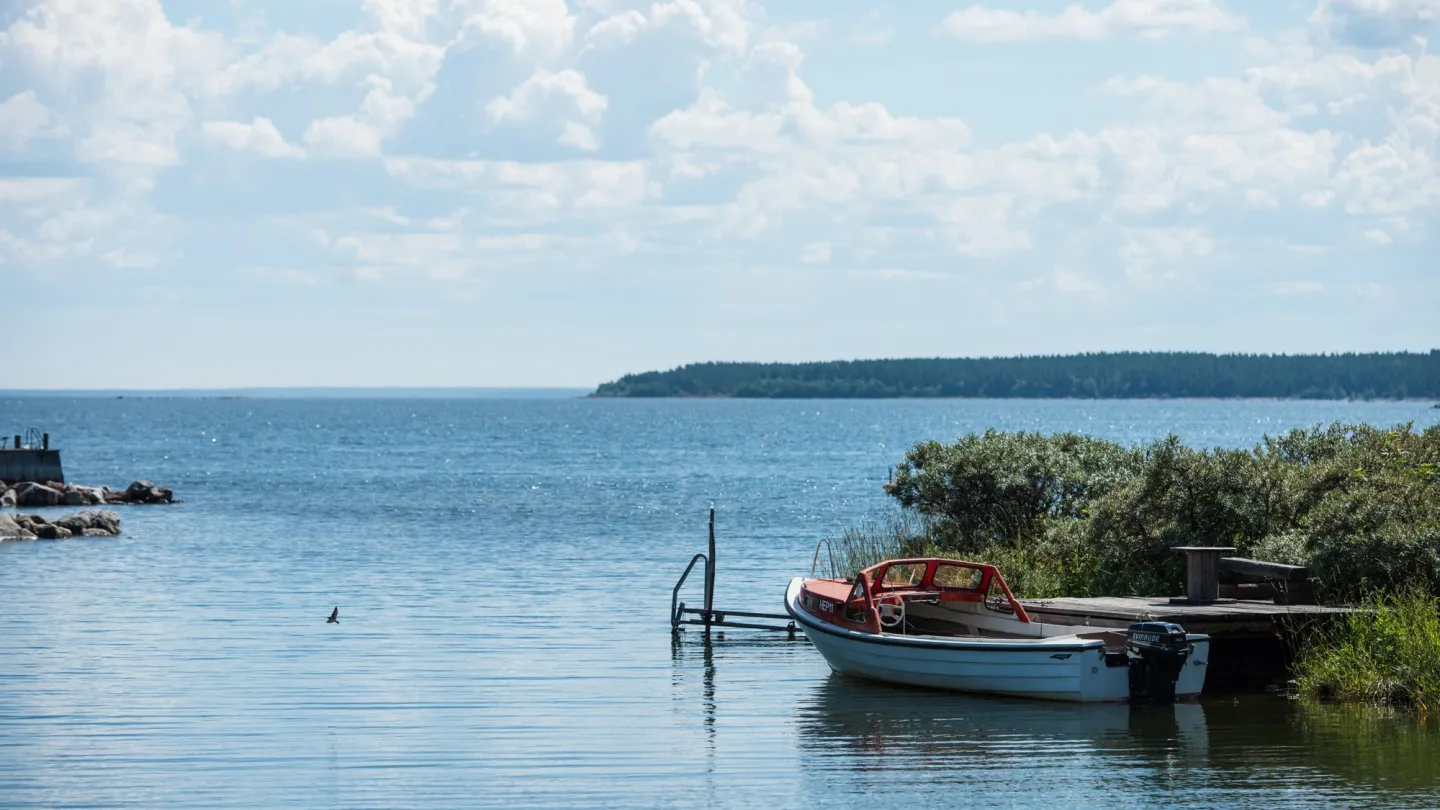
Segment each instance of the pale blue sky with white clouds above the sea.
[[0,386],[1428,350],[1437,36],[1440,0],[0,0]]

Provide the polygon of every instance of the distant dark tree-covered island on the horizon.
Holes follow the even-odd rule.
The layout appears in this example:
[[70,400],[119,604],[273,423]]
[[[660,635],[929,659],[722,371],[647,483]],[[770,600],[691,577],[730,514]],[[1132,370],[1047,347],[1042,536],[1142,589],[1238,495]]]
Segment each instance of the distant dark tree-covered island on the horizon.
[[1437,399],[1440,349],[1369,355],[1106,352],[690,363],[667,372],[625,375],[600,385],[590,396]]

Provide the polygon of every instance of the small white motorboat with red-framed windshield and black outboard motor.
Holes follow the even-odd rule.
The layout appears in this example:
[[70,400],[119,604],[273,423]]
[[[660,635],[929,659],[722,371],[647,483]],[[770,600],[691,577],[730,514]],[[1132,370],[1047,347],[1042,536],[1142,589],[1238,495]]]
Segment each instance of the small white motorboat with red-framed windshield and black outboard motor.
[[890,559],[851,579],[796,577],[785,608],[841,675],[1070,702],[1195,698],[1210,637],[1178,624],[1032,621],[994,565]]

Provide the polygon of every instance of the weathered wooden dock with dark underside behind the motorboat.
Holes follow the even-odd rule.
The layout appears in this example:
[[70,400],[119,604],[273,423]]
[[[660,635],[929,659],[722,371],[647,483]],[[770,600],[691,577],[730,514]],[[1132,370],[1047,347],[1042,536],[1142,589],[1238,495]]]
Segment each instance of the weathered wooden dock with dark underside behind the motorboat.
[[1164,597],[1093,597],[1021,600],[1035,621],[1126,627],[1136,621],[1174,621],[1210,636],[1205,693],[1253,692],[1284,683],[1295,659],[1296,633],[1351,613],[1328,605],[1277,605],[1273,601],[1220,600],[1176,604]]

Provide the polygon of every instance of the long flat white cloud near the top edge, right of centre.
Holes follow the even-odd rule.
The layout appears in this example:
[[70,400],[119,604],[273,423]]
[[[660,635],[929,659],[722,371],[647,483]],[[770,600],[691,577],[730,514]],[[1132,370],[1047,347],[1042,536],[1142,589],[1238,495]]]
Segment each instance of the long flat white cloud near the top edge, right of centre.
[[968,6],[950,13],[942,29],[958,39],[1164,37],[1175,32],[1227,32],[1244,26],[1214,0],[1115,0],[1099,12],[1067,6],[1058,14]]

